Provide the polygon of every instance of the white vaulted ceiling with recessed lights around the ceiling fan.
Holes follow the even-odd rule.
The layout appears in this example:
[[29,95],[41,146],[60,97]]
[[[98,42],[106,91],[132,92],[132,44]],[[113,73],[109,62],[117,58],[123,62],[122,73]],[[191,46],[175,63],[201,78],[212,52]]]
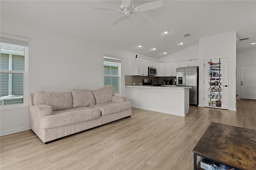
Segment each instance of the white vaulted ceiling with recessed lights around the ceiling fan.
[[[147,2],[152,1],[132,0],[131,4]],[[160,8],[137,12],[148,20],[146,24],[136,16],[112,25],[121,12],[93,9],[120,9],[120,4],[121,0],[0,1],[1,19],[19,20],[156,59],[195,45],[199,38],[232,31],[237,32],[237,50],[255,48],[251,45],[256,42],[255,0],[164,0]],[[166,30],[168,34],[163,34]],[[184,37],[188,33],[191,36]],[[249,39],[240,41],[243,38]],[[138,47],[140,44],[143,46]]]

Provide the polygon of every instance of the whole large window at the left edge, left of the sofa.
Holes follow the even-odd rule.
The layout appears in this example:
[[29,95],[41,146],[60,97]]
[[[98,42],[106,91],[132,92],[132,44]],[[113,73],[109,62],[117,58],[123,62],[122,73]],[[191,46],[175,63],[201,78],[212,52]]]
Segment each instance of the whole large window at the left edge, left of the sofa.
[[0,45],[1,109],[27,106],[28,42],[4,38],[1,34]]

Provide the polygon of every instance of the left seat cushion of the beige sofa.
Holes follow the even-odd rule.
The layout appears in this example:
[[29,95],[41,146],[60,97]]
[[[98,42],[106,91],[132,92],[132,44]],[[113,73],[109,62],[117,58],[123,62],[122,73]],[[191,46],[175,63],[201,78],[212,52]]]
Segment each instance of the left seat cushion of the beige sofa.
[[40,126],[43,129],[47,129],[72,125],[74,123],[97,119],[100,117],[100,114],[100,110],[89,107],[53,111],[53,115],[47,115],[40,119]]

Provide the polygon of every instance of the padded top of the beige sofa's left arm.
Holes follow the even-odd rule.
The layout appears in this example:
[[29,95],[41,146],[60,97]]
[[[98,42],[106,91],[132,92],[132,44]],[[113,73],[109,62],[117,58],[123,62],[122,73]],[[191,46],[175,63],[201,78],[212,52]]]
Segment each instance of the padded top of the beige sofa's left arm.
[[52,107],[49,105],[33,105],[29,108],[30,114],[38,115],[39,118],[52,114]]

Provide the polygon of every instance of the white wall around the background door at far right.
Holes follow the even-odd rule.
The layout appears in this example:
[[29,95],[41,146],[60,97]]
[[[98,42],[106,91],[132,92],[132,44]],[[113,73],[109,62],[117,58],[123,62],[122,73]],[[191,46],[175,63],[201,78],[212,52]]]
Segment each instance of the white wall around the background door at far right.
[[236,51],[236,95],[238,99],[241,97],[241,66],[249,65],[256,65],[256,48]]

